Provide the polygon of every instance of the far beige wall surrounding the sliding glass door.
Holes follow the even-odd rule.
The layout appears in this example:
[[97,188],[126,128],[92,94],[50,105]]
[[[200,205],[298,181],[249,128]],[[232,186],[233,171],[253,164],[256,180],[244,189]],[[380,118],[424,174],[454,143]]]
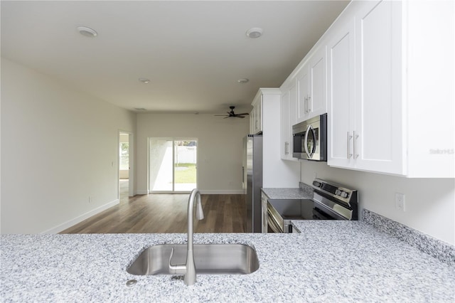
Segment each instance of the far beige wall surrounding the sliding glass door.
[[137,193],[147,193],[147,138],[198,139],[198,188],[203,193],[243,193],[242,139],[249,119],[208,114],[137,115]]

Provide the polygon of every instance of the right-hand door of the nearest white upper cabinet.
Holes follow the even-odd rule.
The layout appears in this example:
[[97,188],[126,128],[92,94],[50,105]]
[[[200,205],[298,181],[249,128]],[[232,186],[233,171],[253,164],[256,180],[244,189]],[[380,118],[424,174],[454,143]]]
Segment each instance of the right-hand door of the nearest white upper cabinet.
[[403,174],[401,4],[366,1],[355,25],[355,168]]

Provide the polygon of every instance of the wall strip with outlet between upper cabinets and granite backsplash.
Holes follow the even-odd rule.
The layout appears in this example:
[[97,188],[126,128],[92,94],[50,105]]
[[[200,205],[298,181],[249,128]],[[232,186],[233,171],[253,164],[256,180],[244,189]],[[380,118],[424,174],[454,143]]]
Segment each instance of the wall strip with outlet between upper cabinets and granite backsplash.
[[[336,169],[324,162],[301,161],[301,181],[336,181],[359,191],[359,208],[455,245],[455,180],[407,179],[363,171]],[[395,208],[395,193],[405,193],[405,212]]]

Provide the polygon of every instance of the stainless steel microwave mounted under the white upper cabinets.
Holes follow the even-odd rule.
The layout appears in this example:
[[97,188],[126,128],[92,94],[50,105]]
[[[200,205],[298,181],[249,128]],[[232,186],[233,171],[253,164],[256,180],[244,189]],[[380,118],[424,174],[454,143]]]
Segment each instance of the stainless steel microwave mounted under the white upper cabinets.
[[293,125],[292,134],[294,158],[327,161],[327,114]]

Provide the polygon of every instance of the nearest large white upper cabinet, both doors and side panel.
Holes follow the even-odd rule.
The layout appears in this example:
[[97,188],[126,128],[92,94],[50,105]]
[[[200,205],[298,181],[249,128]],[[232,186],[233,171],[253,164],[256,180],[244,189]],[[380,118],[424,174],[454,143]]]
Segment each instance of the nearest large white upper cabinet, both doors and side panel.
[[353,1],[333,23],[328,165],[455,176],[453,11],[451,1]]

